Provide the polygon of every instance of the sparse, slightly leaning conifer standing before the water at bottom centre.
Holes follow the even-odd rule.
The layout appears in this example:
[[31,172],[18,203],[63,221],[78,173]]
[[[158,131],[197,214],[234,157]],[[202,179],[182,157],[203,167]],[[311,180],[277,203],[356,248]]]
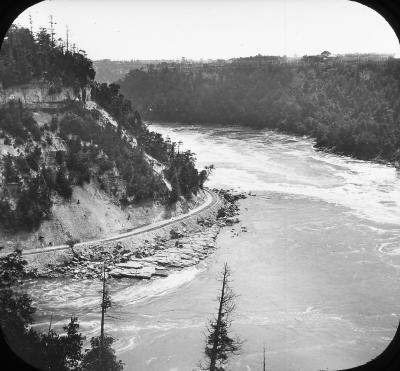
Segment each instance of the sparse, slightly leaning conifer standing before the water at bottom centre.
[[232,319],[231,315],[235,309],[234,300],[236,295],[230,287],[231,272],[225,263],[219,281],[222,284],[221,294],[218,297],[217,317],[210,321],[207,328],[205,356],[206,364],[201,364],[202,370],[222,371],[231,354],[237,355],[241,348],[241,340],[229,335]]

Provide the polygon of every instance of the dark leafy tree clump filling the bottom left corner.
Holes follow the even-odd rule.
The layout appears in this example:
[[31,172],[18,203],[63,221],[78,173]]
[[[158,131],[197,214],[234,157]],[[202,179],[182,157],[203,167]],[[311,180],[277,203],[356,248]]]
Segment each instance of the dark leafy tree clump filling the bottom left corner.
[[16,290],[25,276],[27,262],[21,251],[0,258],[0,325],[10,348],[25,362],[41,370],[78,371],[84,337],[76,317],[64,326],[65,336],[51,329],[38,333],[33,323],[36,308],[27,294]]

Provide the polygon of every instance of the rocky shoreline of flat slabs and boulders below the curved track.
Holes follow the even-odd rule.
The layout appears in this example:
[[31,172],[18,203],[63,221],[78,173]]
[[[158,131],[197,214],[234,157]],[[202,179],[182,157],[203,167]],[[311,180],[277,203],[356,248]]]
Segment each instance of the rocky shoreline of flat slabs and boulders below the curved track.
[[215,215],[197,219],[195,226],[171,229],[168,236],[155,236],[144,240],[135,248],[126,248],[121,242],[97,245],[90,248],[71,249],[63,262],[48,264],[40,271],[31,269],[33,278],[70,277],[75,279],[99,279],[103,266],[113,278],[150,279],[166,277],[170,272],[198,264],[216,248],[220,229],[239,222],[238,201],[244,193],[213,190],[222,200]]

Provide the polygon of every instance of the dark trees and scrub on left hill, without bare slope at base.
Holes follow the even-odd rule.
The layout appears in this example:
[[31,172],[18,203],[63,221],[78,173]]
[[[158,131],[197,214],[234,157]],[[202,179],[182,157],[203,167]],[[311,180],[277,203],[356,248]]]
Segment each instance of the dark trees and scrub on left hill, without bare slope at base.
[[10,28],[0,51],[3,88],[35,79],[54,89],[90,85],[93,100],[106,112],[89,109],[85,99],[65,100],[60,107],[43,107],[51,120],[39,125],[21,101],[3,103],[0,229],[37,229],[51,217],[56,194],[68,201],[74,186],[92,181],[121,205],[189,199],[203,187],[208,171],[196,169],[193,153],[179,152],[175,143],[150,131],[118,85],[93,78],[92,61],[55,41],[53,32]]

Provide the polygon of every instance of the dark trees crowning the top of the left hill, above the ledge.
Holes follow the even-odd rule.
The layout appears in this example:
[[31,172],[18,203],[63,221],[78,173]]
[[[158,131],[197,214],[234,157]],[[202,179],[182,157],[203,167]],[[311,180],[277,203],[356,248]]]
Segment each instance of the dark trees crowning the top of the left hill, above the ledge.
[[33,33],[12,25],[1,45],[0,82],[4,88],[36,79],[52,83],[56,92],[61,86],[82,88],[94,77],[93,63],[85,52],[75,46],[67,48],[51,29],[42,27]]

